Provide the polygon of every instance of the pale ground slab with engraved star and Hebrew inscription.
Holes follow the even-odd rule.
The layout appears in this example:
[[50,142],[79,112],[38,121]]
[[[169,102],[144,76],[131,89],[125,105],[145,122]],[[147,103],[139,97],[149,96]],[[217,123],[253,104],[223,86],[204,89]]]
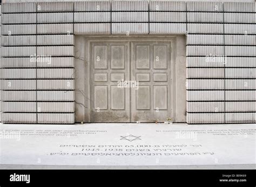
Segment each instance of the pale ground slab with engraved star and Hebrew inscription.
[[255,169],[255,124],[1,124],[2,169]]

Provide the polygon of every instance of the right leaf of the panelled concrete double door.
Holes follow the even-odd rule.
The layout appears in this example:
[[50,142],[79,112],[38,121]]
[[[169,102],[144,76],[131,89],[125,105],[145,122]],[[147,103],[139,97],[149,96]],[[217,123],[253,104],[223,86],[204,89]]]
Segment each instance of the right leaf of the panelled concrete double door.
[[164,122],[172,117],[171,44],[168,42],[131,43],[131,122]]

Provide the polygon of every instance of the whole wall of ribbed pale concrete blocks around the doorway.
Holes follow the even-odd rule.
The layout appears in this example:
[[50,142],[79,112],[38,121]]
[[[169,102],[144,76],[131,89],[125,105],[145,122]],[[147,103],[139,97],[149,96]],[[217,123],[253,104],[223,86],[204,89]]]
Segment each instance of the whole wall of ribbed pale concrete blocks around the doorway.
[[83,121],[75,117],[75,95],[84,89],[75,86],[75,38],[127,31],[129,37],[186,36],[186,84],[176,85],[186,89],[186,99],[175,102],[186,100],[188,124],[256,121],[255,2],[5,2],[3,123]]

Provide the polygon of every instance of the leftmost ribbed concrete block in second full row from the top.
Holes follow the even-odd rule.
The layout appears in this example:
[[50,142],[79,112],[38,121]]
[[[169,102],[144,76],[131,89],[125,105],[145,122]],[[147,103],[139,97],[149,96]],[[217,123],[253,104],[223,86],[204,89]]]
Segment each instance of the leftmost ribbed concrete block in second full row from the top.
[[36,23],[36,13],[4,13],[2,24]]

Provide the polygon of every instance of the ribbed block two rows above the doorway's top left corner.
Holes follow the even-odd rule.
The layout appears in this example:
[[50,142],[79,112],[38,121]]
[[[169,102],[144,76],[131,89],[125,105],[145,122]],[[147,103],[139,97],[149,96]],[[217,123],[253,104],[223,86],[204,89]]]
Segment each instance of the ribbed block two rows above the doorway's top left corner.
[[91,22],[111,22],[111,12],[75,12],[74,22],[91,23]]

